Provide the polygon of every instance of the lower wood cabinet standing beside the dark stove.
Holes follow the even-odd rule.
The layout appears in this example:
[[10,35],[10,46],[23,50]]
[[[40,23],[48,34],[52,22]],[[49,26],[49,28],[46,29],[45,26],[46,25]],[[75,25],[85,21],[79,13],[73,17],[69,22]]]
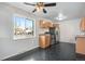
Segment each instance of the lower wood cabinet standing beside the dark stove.
[[47,48],[51,46],[51,35],[47,34],[43,34],[43,35],[39,35],[39,46],[40,48]]

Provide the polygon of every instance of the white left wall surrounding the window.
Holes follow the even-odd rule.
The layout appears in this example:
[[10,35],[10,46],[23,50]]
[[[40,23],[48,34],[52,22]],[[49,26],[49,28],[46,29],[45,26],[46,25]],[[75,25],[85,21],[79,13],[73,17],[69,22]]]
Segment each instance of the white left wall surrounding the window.
[[[25,16],[31,16],[26,11],[16,8],[9,8],[4,3],[0,3],[0,60],[10,57],[12,55],[29,51],[39,47],[38,44],[38,23],[36,23],[36,37],[20,40],[13,40],[13,14],[19,13]],[[34,18],[34,17],[32,17]],[[34,18],[37,21],[37,18]]]

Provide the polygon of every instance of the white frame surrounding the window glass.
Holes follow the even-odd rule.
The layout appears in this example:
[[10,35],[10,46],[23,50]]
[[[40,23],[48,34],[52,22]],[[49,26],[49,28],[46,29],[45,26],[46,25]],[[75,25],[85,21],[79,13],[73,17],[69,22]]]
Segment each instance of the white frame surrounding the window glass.
[[16,36],[14,35],[14,31],[13,31],[13,39],[14,40],[17,40],[17,39],[27,39],[27,38],[34,38],[36,37],[36,20],[31,18],[31,17],[27,17],[25,15],[20,15],[20,14],[14,14],[13,15],[13,30],[14,30],[14,16],[18,16],[18,17],[25,17],[25,18],[28,18],[28,20],[32,20],[33,21],[33,36]]

